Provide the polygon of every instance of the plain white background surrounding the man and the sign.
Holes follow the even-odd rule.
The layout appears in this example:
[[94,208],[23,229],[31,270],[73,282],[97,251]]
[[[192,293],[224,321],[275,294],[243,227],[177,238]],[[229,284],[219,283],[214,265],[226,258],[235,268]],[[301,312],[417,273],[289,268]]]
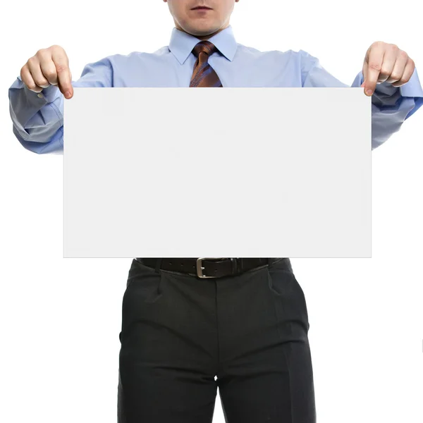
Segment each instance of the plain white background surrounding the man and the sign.
[[[173,21],[161,0],[9,0],[0,15],[0,420],[116,422],[131,260],[63,259],[63,158],[23,149],[7,90],[38,49],[65,48],[76,80],[104,56],[167,45]],[[416,1],[240,0],[232,25],[241,44],[303,49],[348,84],[372,42],[393,42],[423,79]],[[422,131],[419,110],[372,153],[372,259],[292,260],[319,422],[422,421]]]

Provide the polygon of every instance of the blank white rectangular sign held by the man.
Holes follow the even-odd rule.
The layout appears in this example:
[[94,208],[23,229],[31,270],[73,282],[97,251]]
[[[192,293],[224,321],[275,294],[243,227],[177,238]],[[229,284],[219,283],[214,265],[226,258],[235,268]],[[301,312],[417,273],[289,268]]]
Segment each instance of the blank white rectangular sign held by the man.
[[74,88],[64,257],[371,257],[362,88]]

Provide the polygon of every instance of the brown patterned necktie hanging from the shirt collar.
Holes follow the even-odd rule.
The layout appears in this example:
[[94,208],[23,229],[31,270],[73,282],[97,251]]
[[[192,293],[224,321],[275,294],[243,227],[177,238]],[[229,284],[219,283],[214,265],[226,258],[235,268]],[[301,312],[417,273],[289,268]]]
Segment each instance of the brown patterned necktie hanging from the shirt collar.
[[199,42],[192,53],[197,57],[190,87],[222,87],[221,80],[214,68],[209,65],[209,57],[217,51],[216,46],[209,41]]

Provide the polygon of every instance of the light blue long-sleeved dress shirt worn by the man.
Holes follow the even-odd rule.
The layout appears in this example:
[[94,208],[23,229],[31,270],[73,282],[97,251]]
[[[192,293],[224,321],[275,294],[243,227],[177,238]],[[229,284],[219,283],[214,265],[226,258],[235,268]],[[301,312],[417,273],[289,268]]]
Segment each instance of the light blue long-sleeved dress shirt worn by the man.
[[[238,44],[231,25],[209,39],[219,51],[209,63],[223,87],[349,87],[334,78],[306,51],[259,51]],[[200,39],[173,28],[168,46],[154,53],[115,54],[82,70],[73,87],[189,87]],[[360,87],[362,72],[351,87]],[[364,95],[364,90],[363,90]],[[32,92],[20,76],[8,90],[13,133],[26,149],[63,154],[63,94],[55,85]],[[417,76],[402,87],[384,82],[372,95],[372,149],[400,129],[423,104]]]

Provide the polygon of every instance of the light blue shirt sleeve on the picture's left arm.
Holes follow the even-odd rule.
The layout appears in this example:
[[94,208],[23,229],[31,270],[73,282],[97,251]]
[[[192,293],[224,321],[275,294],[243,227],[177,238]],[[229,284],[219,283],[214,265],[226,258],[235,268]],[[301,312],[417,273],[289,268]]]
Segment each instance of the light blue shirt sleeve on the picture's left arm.
[[[73,87],[113,87],[110,57],[88,63]],[[37,154],[63,154],[63,101],[56,85],[37,93],[20,76],[8,89],[13,133],[25,149]],[[66,100],[67,101],[67,100]]]

